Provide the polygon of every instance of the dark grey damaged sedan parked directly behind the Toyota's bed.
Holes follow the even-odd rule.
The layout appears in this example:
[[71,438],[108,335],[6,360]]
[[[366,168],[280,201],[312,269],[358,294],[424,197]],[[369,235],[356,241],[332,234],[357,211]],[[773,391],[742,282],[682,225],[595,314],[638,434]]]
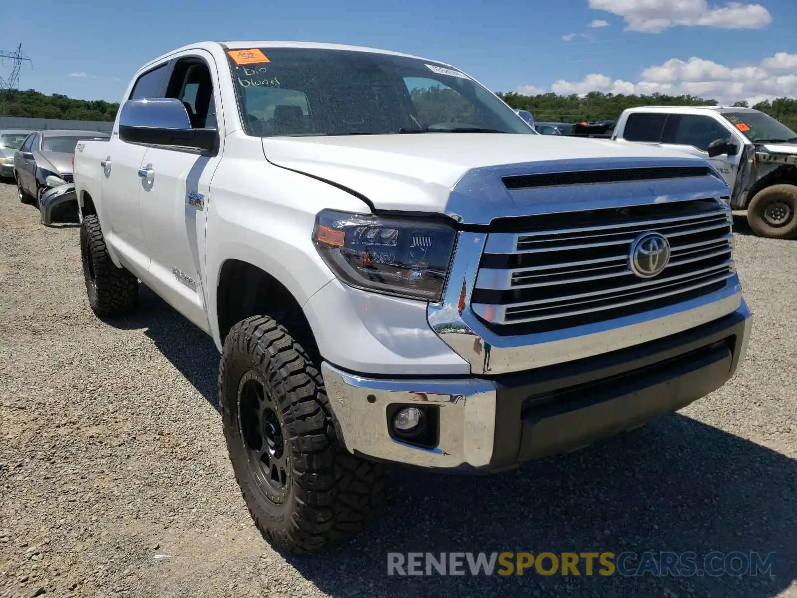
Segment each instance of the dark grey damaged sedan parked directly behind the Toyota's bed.
[[99,131],[36,131],[14,152],[14,176],[19,200],[37,205],[49,189],[72,183],[72,157],[80,140],[107,140]]

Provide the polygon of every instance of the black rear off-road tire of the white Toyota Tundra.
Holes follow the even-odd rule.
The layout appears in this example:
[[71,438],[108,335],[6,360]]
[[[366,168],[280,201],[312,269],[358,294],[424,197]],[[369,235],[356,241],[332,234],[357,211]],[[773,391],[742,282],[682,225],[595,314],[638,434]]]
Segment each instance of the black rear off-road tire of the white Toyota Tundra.
[[80,224],[80,257],[92,312],[98,317],[109,317],[135,310],[139,281],[112,262],[96,216],[86,216]]

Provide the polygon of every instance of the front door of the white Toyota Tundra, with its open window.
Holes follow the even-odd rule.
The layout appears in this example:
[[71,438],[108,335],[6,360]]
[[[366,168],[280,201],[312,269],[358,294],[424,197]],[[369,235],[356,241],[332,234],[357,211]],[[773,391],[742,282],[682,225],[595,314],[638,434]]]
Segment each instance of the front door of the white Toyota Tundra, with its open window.
[[[216,118],[215,110],[220,105],[218,73],[210,53],[192,50],[173,59],[165,96],[183,101],[194,128],[218,128],[219,139],[224,139],[223,119]],[[205,223],[210,179],[220,159],[220,149],[202,152],[152,145],[141,167],[149,284],[204,330],[209,329],[202,279]]]

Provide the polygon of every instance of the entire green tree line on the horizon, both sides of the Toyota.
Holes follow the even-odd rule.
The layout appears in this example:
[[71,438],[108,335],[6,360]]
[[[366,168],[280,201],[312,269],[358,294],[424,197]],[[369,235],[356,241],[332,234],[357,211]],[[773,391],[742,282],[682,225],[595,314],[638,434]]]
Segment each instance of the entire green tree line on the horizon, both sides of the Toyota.
[[[717,105],[717,100],[705,100],[701,97],[687,95],[667,96],[662,93],[654,93],[650,96],[626,96],[589,92],[582,97],[575,93],[570,96],[557,96],[556,93],[524,96],[515,92],[498,92],[498,96],[501,96],[512,108],[528,110],[535,120],[564,123],[576,123],[582,120],[614,120],[624,109],[635,106]],[[431,97],[428,99],[431,100]],[[429,102],[430,110],[433,104],[434,102]],[[747,102],[744,101],[736,102],[734,105],[747,108]],[[777,100],[760,102],[752,108],[766,112],[787,127],[797,131],[797,99],[781,97]],[[116,118],[118,109],[118,102],[75,100],[60,93],[47,96],[35,89],[0,92],[0,116],[112,121]]]

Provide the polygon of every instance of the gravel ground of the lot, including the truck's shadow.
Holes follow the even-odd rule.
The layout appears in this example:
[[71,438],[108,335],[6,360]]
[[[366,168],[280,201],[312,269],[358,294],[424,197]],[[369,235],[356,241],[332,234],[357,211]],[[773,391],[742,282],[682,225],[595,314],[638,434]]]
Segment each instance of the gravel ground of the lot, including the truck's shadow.
[[[797,596],[797,242],[737,226],[756,313],[709,398],[489,478],[395,468],[380,517],[320,555],[257,533],[227,459],[209,337],[143,290],[92,316],[77,228],[0,186],[0,596]],[[777,574],[388,577],[388,552],[778,553]]]

